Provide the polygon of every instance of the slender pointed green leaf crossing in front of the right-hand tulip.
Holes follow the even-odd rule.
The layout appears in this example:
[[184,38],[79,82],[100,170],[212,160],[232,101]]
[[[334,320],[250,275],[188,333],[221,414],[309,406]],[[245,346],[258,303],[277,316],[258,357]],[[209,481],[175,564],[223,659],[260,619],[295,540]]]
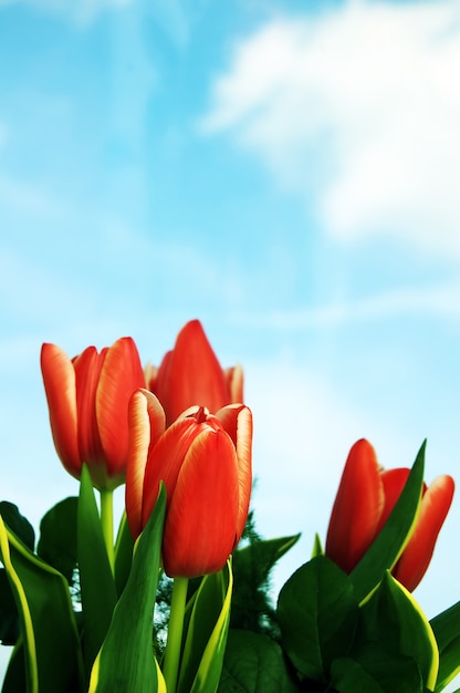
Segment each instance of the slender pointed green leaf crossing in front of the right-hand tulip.
[[405,487],[385,526],[366,554],[349,573],[358,601],[363,601],[378,586],[406,546],[414,528],[424,485],[426,442],[420,447]]

